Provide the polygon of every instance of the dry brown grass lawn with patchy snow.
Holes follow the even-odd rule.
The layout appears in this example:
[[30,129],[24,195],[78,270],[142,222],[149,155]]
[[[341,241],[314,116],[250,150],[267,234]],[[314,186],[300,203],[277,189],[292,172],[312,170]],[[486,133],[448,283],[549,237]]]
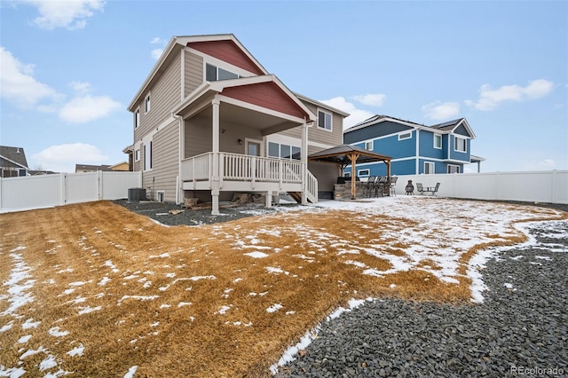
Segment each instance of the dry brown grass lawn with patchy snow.
[[[404,256],[407,242],[383,233],[417,225],[335,210],[163,227],[108,202],[1,215],[0,282],[10,280],[17,254],[35,282],[28,290],[34,301],[14,314],[2,315],[10,295],[0,287],[0,328],[12,325],[0,334],[0,366],[21,362],[28,374],[43,375],[51,370],[40,372],[40,363],[51,355],[53,371],[79,376],[122,376],[130,366],[151,377],[269,375],[288,345],[352,297],[468,301],[469,258],[479,248],[523,240],[512,230],[463,251],[459,284],[422,269],[436,270],[433,260],[383,277],[346,264],[391,269],[387,259],[363,251]],[[243,255],[253,251],[267,256]],[[280,311],[267,312],[275,303]],[[27,320],[40,323],[23,329]],[[69,333],[51,335],[53,327]],[[22,335],[31,338],[22,343]],[[83,356],[67,354],[80,345]]]

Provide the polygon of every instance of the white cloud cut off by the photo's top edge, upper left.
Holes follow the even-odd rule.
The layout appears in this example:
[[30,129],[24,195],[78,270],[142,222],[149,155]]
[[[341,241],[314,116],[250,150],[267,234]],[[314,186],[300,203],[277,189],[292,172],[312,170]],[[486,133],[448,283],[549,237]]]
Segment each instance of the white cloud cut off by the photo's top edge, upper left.
[[34,23],[39,28],[52,30],[54,28],[82,29],[95,11],[103,11],[105,2],[100,0],[24,0],[25,3],[36,6],[39,17]]

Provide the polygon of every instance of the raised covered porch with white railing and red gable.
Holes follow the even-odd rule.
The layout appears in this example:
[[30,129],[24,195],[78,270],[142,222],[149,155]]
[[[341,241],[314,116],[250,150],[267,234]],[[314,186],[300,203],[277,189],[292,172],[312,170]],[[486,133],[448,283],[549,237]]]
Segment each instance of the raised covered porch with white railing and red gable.
[[[273,75],[204,83],[174,111],[179,119],[182,191],[210,191],[213,215],[221,192],[301,193],[316,202],[307,169],[308,128],[315,115]],[[299,154],[266,157],[265,137],[299,128]]]

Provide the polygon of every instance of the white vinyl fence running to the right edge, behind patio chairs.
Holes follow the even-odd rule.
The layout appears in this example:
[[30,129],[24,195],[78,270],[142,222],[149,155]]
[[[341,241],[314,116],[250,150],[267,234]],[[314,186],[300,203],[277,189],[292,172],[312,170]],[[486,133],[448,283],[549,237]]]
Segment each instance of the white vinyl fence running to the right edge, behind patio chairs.
[[[438,196],[475,200],[568,203],[568,170],[399,176],[397,194],[408,180],[424,186],[440,183]],[[425,194],[425,195],[429,195]]]

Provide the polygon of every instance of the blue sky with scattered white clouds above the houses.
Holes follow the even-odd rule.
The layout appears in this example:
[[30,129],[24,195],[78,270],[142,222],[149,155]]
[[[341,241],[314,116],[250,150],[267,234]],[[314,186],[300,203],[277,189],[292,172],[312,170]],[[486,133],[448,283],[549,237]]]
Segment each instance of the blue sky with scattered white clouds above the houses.
[[568,169],[566,1],[1,0],[0,18],[0,144],[31,169],[126,161],[126,106],[171,36],[223,33],[345,126],[466,117],[482,171]]

